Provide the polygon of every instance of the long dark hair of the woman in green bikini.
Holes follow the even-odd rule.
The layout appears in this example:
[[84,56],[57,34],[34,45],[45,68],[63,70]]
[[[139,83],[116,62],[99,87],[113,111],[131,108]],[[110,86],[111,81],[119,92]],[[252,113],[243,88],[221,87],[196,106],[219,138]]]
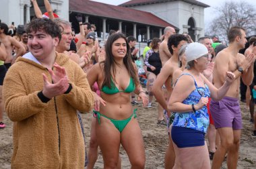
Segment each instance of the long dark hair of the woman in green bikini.
[[125,64],[125,67],[127,68],[129,75],[131,78],[133,78],[133,81],[135,82],[135,85],[139,84],[136,76],[137,70],[135,70],[135,65],[133,65],[133,61],[131,60],[131,52],[130,52],[130,47],[129,43],[127,42],[127,39],[124,34],[122,33],[116,33],[112,34],[111,36],[108,37],[108,40],[106,41],[106,59],[102,61],[100,64],[104,64],[104,81],[102,83],[102,87],[107,86],[108,88],[111,89],[111,78],[115,80],[115,77],[112,77],[111,75],[111,68],[113,68],[113,75],[115,76],[116,74],[116,66],[121,66],[114,60],[114,56],[112,53],[112,46],[113,43],[118,40],[119,38],[123,38],[126,42],[127,46],[127,53],[126,56],[123,58],[123,63]]

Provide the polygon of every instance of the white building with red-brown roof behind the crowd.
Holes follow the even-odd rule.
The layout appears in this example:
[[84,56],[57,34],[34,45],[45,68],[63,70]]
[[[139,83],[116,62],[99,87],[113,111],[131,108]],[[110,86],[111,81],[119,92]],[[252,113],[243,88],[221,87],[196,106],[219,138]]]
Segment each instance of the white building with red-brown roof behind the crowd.
[[[77,13],[84,15],[84,21],[95,23],[99,38],[104,40],[109,30],[122,30],[127,36],[141,35],[141,42],[161,36],[166,26],[172,26],[177,33],[188,33],[197,41],[204,36],[204,9],[210,7],[195,0],[131,0],[119,6],[89,0],[49,0],[53,11],[63,19],[72,22],[79,30],[75,19]],[[44,13],[44,0],[37,0]],[[34,17],[30,0],[1,0],[0,19],[15,26],[25,24]]]

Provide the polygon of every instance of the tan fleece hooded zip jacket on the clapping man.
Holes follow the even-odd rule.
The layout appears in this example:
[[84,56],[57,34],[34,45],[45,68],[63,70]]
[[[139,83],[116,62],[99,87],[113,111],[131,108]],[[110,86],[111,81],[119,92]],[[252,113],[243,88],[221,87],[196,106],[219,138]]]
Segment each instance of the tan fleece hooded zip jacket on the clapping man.
[[42,103],[42,73],[49,71],[19,57],[9,68],[4,84],[5,111],[13,121],[11,168],[84,168],[85,145],[77,110],[90,111],[94,97],[86,74],[65,54],[56,54],[65,67],[72,89]]

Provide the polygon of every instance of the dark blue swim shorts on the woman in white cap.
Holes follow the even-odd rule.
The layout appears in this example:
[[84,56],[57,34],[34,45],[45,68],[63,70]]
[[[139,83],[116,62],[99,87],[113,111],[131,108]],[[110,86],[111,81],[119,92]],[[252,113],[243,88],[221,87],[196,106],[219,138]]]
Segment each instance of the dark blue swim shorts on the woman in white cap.
[[172,142],[174,142],[178,148],[204,146],[204,135],[205,133],[203,133],[203,131],[198,131],[196,129],[172,126]]

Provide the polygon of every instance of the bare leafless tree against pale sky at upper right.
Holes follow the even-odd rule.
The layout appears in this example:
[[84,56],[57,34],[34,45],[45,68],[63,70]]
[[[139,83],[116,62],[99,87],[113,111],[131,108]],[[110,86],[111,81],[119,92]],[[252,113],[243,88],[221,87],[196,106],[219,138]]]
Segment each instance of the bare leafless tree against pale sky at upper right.
[[245,1],[226,1],[216,8],[217,16],[212,20],[207,34],[218,35],[224,42],[228,42],[228,30],[232,26],[241,26],[247,30],[247,35],[256,32],[256,10]]

